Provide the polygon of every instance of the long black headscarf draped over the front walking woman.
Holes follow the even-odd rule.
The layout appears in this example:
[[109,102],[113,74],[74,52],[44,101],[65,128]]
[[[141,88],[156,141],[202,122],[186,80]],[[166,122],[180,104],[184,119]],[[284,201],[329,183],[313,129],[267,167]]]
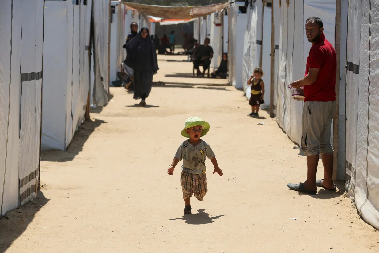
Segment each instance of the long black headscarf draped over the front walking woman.
[[[147,30],[147,36],[142,37],[142,31]],[[155,73],[159,70],[157,52],[155,50],[154,42],[151,40],[149,28],[142,27],[139,33],[127,44],[127,56],[125,64],[132,69],[141,70],[152,69]],[[151,58],[146,58],[147,56]],[[149,64],[149,65],[148,65]],[[150,66],[150,64],[152,64]]]

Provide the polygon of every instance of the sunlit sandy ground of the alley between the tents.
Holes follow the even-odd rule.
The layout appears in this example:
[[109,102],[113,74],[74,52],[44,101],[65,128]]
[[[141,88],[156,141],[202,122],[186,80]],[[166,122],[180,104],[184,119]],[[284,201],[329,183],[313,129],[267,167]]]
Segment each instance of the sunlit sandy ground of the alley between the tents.
[[[66,152],[43,152],[39,198],[0,220],[5,252],[378,252],[379,232],[341,192],[301,195],[305,157],[267,112],[246,116],[241,91],[192,78],[185,57],[160,57],[148,106],[111,88]],[[180,166],[167,168],[189,116],[210,123],[204,137],[224,171],[183,217]],[[263,122],[264,125],[258,125]],[[321,163],[320,163],[321,164]],[[320,167],[318,178],[323,178]],[[298,218],[298,220],[291,220]]]

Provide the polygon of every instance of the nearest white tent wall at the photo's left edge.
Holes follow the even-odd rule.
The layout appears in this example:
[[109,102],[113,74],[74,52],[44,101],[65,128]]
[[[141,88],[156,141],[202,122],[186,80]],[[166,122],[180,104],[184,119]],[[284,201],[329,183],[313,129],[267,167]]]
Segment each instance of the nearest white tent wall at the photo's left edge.
[[43,0],[0,2],[0,216],[36,196]]

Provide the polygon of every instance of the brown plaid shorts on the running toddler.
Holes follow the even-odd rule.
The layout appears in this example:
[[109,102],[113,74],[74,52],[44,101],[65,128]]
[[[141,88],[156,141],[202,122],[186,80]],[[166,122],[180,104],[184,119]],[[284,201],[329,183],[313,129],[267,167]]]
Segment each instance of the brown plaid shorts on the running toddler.
[[203,201],[205,194],[208,192],[207,176],[205,173],[192,174],[182,171],[180,176],[180,183],[183,189],[183,199],[191,198],[192,193],[200,201]]

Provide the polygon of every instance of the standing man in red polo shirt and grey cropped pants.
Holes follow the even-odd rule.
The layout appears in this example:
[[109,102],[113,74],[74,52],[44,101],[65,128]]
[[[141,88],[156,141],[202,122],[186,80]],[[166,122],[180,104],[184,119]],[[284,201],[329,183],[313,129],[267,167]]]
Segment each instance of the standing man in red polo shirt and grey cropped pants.
[[[305,77],[291,83],[293,88],[304,86],[302,115],[302,149],[307,156],[307,180],[300,184],[287,184],[291,190],[310,194],[317,187],[335,190],[333,183],[333,147],[330,129],[336,110],[335,82],[337,58],[335,50],[323,33],[319,17],[309,17],[305,22],[305,34],[312,47],[307,57]],[[324,179],[316,180],[319,156],[324,165]]]

